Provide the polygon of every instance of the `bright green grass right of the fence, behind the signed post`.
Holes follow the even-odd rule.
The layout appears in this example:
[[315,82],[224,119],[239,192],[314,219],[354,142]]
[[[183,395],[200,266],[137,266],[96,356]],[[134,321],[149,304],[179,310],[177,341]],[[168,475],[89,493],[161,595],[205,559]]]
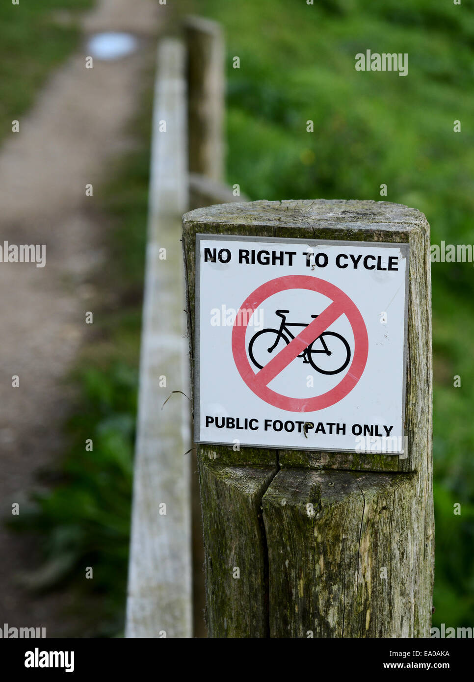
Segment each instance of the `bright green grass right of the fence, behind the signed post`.
[[[188,8],[226,33],[231,185],[252,199],[403,203],[426,213],[432,243],[474,243],[472,0],[190,0]],[[409,53],[408,76],[356,72],[356,53],[369,48]],[[474,622],[473,275],[472,263],[432,265],[434,625]]]

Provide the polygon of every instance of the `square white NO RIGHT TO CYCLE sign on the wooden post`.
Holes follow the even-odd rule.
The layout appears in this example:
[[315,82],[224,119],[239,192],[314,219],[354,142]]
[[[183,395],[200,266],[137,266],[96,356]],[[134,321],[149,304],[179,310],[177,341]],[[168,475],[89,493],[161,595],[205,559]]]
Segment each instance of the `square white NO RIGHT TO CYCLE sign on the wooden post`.
[[405,456],[408,246],[196,240],[196,441]]

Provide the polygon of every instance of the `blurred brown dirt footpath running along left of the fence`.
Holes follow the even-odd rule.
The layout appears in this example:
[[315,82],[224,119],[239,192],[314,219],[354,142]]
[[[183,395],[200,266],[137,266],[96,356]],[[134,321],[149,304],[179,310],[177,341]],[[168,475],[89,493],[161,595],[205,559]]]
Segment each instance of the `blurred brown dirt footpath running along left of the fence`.
[[[21,513],[35,471],[61,456],[70,398],[63,378],[87,332],[88,280],[106,259],[106,225],[85,188],[98,187],[133,144],[125,124],[138,105],[140,74],[154,58],[160,12],[155,0],[99,1],[83,17],[83,50],[51,75],[33,110],[19,117],[20,132],[0,148],[0,246],[46,244],[46,267],[0,263],[1,518],[15,502]],[[140,49],[117,61],[94,59],[86,69],[87,35],[109,30],[134,33]],[[17,584],[30,553],[25,539],[0,525],[0,624],[61,636],[68,594],[31,597]]]

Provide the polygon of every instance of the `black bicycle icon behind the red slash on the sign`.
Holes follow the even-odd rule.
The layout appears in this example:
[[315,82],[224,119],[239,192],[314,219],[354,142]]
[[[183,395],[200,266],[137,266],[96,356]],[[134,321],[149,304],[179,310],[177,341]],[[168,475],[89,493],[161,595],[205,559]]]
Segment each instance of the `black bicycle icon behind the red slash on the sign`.
[[[248,355],[259,370],[263,369],[263,366],[266,364],[265,349],[267,353],[273,353],[280,341],[284,341],[285,344],[288,345],[290,339],[293,340],[295,338],[288,327],[308,327],[308,324],[303,322],[286,322],[286,314],[289,312],[289,310],[276,310],[275,314],[282,318],[280,329],[271,329],[271,327],[268,329],[261,329],[261,331],[257,331],[250,339],[250,343],[248,344]],[[316,318],[318,315],[312,315],[311,317]],[[317,347],[318,344],[321,345],[321,348]],[[321,357],[322,353],[325,357],[334,356],[336,358],[337,367],[334,368],[331,366],[330,362],[330,369],[323,369],[321,366],[318,366],[315,361],[317,359],[316,353],[320,354],[319,357]],[[315,356],[315,358],[313,356]],[[303,363],[309,363],[316,372],[320,372],[321,374],[339,374],[339,372],[345,370],[349,365],[349,361],[351,360],[351,349],[344,336],[341,336],[335,331],[323,331],[323,333],[320,334],[318,338],[314,339],[314,341],[304,349],[303,353],[300,353],[297,357],[302,357]],[[323,357],[321,357],[321,359],[323,359]],[[261,363],[259,360],[263,360],[263,362]]]

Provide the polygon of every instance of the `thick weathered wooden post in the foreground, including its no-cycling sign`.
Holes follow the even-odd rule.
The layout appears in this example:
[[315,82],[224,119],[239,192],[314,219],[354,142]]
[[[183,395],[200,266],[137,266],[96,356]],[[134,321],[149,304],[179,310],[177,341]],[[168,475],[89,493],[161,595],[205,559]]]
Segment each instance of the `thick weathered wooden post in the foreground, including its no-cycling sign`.
[[183,216],[210,636],[430,636],[429,247],[385,202]]

